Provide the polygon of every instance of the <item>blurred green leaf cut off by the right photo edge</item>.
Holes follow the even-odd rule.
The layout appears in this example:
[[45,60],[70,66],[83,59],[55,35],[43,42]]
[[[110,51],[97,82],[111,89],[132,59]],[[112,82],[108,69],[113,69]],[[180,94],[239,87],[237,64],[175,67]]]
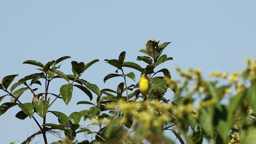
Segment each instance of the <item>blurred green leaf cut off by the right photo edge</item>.
[[252,109],[256,110],[256,86],[252,85],[246,92],[246,99],[249,102]]

